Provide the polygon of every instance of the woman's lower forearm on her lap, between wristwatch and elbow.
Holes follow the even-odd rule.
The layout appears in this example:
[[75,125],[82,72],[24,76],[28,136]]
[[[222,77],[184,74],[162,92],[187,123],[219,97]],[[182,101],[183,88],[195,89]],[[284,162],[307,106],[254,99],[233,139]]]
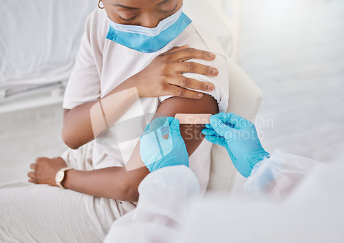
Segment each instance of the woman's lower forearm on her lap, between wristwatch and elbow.
[[149,173],[146,167],[126,171],[125,167],[108,167],[92,171],[66,171],[63,187],[99,198],[138,201],[138,185]]

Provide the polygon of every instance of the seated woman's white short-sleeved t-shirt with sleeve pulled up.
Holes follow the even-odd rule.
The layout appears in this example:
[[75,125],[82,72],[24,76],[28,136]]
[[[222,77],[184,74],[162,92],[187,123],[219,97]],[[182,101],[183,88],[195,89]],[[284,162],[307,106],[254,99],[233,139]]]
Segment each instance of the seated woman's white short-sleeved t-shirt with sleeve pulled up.
[[[211,94],[219,105],[219,112],[226,112],[228,106],[228,63],[224,50],[217,39],[205,30],[191,23],[177,38],[154,53],[143,53],[106,39],[109,21],[104,10],[96,9],[89,15],[76,64],[65,90],[63,108],[73,109],[77,105],[95,101],[111,92],[116,86],[137,74],[162,52],[174,46],[189,44],[200,50],[216,54],[214,61],[190,60],[211,65],[219,70],[216,77],[200,74],[184,74],[189,78],[208,81],[215,85]],[[171,96],[140,98],[103,136],[94,142],[92,155],[94,169],[124,166],[140,134],[133,134],[133,127],[142,133],[151,121],[160,103]],[[126,125],[127,124],[127,125]],[[126,139],[123,134],[130,134]],[[138,132],[137,132],[138,133]],[[120,134],[121,138],[118,139]],[[204,140],[190,157],[190,168],[200,182],[202,193],[206,190],[210,169],[211,143]]]

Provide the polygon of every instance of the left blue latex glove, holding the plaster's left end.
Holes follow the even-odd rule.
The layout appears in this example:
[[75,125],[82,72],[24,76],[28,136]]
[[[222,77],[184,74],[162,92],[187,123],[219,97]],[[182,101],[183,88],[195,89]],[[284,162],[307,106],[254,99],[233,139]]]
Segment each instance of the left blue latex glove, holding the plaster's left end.
[[148,124],[140,138],[140,156],[151,172],[173,165],[189,167],[189,155],[180,135],[179,120],[160,117]]

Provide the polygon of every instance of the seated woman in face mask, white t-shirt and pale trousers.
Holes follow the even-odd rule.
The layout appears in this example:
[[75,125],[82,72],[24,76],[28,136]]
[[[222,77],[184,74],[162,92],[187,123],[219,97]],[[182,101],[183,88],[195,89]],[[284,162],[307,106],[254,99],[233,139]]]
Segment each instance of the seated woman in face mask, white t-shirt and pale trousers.
[[[224,51],[182,3],[103,0],[105,10],[89,15],[63,102],[62,136],[71,149],[37,158],[33,183],[0,187],[1,242],[102,242],[112,222],[136,207],[149,173],[125,167],[140,162],[133,130],[142,132],[149,114],[226,111]],[[202,142],[202,127],[180,128],[204,193],[211,144]]]

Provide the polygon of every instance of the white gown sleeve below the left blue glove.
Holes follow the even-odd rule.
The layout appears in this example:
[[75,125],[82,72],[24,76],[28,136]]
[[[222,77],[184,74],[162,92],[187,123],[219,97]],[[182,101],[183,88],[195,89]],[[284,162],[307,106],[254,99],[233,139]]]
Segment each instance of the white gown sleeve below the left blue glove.
[[200,196],[198,180],[184,165],[149,173],[138,187],[138,206],[116,220],[104,243],[175,242],[192,200]]

